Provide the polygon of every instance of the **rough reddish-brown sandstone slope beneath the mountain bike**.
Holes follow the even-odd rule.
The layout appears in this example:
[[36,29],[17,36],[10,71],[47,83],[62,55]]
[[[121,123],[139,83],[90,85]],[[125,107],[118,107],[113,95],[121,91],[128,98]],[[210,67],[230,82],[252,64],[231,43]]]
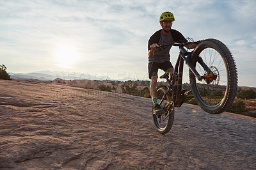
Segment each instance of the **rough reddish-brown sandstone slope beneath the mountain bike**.
[[1,169],[255,169],[256,119],[195,105],[154,128],[148,98],[0,81]]

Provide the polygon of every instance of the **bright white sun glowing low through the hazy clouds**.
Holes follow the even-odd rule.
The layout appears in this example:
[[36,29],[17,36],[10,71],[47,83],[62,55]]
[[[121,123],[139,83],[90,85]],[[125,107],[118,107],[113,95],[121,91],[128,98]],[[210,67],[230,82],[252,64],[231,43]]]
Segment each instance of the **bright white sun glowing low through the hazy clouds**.
[[60,45],[56,50],[56,62],[58,66],[72,68],[72,65],[74,65],[77,59],[77,51],[70,45]]

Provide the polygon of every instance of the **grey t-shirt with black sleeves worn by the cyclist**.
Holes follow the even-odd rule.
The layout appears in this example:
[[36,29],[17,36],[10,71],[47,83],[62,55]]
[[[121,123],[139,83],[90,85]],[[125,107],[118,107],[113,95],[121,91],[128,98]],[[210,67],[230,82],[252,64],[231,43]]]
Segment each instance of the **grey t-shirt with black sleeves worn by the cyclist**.
[[[186,38],[177,30],[171,29],[170,34],[167,36],[164,36],[162,31],[160,29],[159,31],[156,31],[154,35],[150,36],[148,40],[148,50],[150,45],[153,43],[160,44],[170,44],[174,42],[188,42]],[[156,63],[164,63],[165,61],[170,61],[170,49],[172,46],[167,47],[163,50],[157,50],[155,51],[155,54],[152,58],[148,58],[148,62],[156,62]]]

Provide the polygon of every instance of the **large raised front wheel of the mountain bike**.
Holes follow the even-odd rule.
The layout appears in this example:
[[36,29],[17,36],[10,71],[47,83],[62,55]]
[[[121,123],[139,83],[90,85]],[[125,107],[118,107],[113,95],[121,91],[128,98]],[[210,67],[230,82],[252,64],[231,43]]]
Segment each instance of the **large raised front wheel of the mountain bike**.
[[211,114],[227,110],[237,91],[236,64],[230,50],[219,40],[207,39],[197,45],[191,63],[200,75],[205,76],[198,81],[189,72],[191,89],[198,105]]

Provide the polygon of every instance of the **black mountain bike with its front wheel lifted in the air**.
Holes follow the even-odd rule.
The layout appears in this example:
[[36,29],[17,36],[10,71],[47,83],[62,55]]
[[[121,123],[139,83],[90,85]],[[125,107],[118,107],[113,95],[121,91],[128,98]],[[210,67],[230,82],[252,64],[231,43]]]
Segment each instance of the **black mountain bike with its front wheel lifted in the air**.
[[[189,52],[184,46],[196,43]],[[159,50],[177,46],[179,56],[172,77],[167,70],[160,78],[168,82],[157,89],[157,100],[164,109],[163,114],[153,114],[156,129],[161,134],[169,132],[173,125],[174,108],[180,107],[189,95],[193,94],[198,105],[211,114],[220,114],[230,107],[237,91],[237,70],[234,58],[228,47],[216,39],[198,42],[160,45]],[[184,62],[189,68],[190,91],[182,89]]]

